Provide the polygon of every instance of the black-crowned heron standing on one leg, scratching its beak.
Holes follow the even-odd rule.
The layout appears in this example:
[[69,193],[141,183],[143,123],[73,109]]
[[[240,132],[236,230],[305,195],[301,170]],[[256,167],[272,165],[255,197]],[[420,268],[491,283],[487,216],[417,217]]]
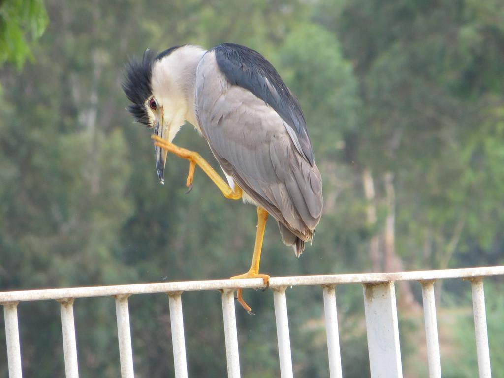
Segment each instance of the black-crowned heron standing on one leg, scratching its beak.
[[[189,191],[199,166],[224,197],[257,207],[250,269],[231,279],[262,278],[268,288],[270,276],[259,273],[268,216],[299,257],[324,206],[322,177],[303,112],[276,69],[258,51],[239,44],[211,49],[177,45],[130,58],[122,89],[134,119],[153,129],[161,183],[167,154],[172,153],[190,162]],[[172,143],[187,122],[207,141],[226,180],[199,153]],[[250,313],[242,289],[237,300]]]

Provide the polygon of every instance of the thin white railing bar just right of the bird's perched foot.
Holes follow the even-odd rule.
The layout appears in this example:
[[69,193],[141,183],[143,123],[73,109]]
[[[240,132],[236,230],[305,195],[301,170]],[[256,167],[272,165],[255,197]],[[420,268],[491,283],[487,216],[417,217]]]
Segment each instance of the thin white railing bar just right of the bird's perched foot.
[[277,324],[278,355],[281,378],[292,378],[292,355],[290,351],[289,319],[287,316],[286,287],[273,289],[275,320]]

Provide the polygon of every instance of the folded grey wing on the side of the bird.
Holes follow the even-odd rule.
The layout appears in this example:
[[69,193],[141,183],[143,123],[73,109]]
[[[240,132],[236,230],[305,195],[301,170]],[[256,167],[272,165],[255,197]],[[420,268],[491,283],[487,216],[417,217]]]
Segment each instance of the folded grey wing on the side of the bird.
[[230,83],[214,51],[198,67],[195,102],[201,131],[223,170],[279,223],[310,240],[322,214],[321,175],[282,117]]

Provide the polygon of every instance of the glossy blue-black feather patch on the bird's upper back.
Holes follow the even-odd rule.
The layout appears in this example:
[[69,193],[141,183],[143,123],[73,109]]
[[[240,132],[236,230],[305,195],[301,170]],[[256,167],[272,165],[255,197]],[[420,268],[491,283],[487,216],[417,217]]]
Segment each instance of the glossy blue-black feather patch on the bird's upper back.
[[[259,52],[248,47],[223,43],[213,48],[217,65],[232,84],[254,93],[266,102],[294,130],[306,161],[313,166],[313,150],[306,121],[296,97],[287,88],[273,65]],[[273,91],[267,85],[273,87]]]

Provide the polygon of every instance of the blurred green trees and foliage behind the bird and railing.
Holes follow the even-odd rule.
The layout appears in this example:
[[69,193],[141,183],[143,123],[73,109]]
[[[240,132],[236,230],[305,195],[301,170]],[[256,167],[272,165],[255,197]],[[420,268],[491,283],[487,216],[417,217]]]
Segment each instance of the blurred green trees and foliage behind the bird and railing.
[[[502,265],[501,0],[0,2],[0,290],[225,278],[245,271],[256,209],[225,200],[124,109],[123,68],[148,47],[260,51],[304,110],[325,208],[300,259],[266,231],[272,276]],[[188,125],[175,143],[214,162]],[[220,171],[220,169],[219,169]],[[504,289],[486,280],[493,376]],[[418,285],[418,286],[416,286]],[[436,285],[445,377],[477,375],[470,285]],[[427,374],[420,285],[397,288],[405,377]],[[271,291],[237,307],[242,376],[279,376]],[[287,292],[296,376],[328,376],[322,291]],[[362,287],[337,288],[343,373],[369,376]],[[183,295],[188,369],[226,375],[220,294]],[[173,376],[166,295],[130,299],[138,377]],[[119,376],[114,301],[75,303],[82,377]],[[64,375],[59,305],[19,306],[26,376]],[[3,320],[3,316],[0,316]],[[0,376],[7,376],[4,326]]]

